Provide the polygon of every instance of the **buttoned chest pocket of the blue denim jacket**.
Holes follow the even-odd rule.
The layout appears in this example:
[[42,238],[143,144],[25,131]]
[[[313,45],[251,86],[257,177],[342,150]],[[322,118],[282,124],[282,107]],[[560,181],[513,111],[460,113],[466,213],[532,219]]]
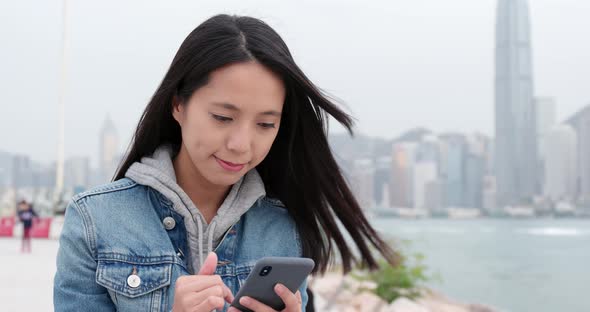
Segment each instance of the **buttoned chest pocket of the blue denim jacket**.
[[117,311],[164,311],[173,256],[99,257],[96,283],[107,288]]

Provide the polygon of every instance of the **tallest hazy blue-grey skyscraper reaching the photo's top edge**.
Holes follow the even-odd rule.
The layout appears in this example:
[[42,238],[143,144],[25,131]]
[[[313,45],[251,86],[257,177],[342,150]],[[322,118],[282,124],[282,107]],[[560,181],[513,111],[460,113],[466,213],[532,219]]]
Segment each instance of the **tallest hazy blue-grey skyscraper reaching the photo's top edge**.
[[498,0],[496,16],[497,202],[513,205],[537,192],[538,165],[528,4]]

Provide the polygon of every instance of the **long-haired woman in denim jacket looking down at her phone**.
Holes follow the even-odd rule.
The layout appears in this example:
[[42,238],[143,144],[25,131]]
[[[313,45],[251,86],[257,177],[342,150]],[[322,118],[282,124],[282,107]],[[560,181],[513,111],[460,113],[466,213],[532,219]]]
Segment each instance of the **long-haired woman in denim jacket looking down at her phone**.
[[[198,26],[115,181],[68,206],[55,310],[225,310],[264,256],[310,257],[318,273],[337,251],[348,272],[377,266],[373,246],[393,262],[330,152],[328,114],[350,131],[350,117],[267,24],[218,15]],[[285,311],[307,304],[305,283],[296,293],[275,290]],[[240,303],[272,311],[252,298]]]

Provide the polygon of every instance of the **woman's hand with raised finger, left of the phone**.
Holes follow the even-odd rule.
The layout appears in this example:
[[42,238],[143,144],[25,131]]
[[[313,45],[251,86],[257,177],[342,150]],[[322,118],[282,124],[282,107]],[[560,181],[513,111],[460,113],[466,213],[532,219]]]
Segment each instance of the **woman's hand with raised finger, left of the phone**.
[[181,276],[174,286],[173,312],[211,312],[223,309],[234,296],[223,284],[219,275],[213,275],[217,267],[217,255],[209,253],[198,275]]

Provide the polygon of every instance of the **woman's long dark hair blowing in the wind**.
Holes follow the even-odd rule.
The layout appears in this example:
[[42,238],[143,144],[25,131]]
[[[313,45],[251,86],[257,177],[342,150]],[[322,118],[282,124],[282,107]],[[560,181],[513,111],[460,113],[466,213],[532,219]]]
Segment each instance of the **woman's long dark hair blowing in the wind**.
[[[336,253],[340,254],[345,273],[353,264],[375,269],[378,263],[373,247],[395,264],[395,252],[363,215],[328,145],[328,115],[352,135],[351,117],[305,76],[281,37],[252,17],[217,15],[188,35],[143,112],[114,179],[123,178],[131,164],[152,154],[158,146],[180,145],[180,126],[172,117],[174,97],[184,103],[207,83],[211,71],[247,61],[263,64],[278,74],[285,85],[281,126],[257,170],[266,192],[280,199],[294,218],[303,255],[317,264],[314,273],[325,272]],[[340,224],[358,252],[347,243]]]

